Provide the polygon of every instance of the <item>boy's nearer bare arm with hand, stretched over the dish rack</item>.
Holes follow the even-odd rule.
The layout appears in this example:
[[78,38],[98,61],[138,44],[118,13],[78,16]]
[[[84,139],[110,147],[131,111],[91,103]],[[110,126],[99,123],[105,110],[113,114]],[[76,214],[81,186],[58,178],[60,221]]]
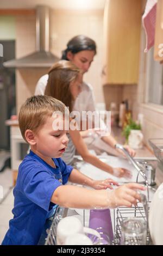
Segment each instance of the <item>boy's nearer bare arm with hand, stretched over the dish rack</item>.
[[72,185],[59,186],[53,193],[51,202],[66,208],[116,208],[117,206],[130,207],[141,201],[136,190],[145,190],[140,184],[129,183],[116,190],[87,190],[83,187]]

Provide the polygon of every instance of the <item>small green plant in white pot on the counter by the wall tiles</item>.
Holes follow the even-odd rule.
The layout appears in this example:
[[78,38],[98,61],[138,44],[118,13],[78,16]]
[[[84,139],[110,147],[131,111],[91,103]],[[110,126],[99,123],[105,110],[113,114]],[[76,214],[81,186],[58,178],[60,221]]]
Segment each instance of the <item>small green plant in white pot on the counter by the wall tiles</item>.
[[130,113],[126,114],[122,135],[126,138],[126,144],[129,144],[131,148],[142,148],[143,135],[141,125],[131,118]]

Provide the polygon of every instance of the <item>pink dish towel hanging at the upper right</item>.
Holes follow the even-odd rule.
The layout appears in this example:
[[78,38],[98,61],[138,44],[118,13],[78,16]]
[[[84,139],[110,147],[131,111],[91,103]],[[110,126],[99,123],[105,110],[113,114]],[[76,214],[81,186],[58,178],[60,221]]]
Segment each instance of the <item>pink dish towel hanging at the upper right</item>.
[[156,4],[157,0],[147,0],[145,13],[142,16],[142,24],[146,33],[145,52],[154,45]]

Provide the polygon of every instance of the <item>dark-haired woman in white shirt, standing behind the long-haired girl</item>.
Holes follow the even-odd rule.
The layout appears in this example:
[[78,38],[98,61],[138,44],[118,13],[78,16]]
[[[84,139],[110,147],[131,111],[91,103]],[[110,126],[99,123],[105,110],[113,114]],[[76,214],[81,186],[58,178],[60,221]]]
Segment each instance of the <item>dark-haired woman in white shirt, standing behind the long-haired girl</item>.
[[[90,68],[90,65],[93,61],[93,58],[96,55],[96,43],[89,37],[85,35],[77,35],[74,36],[70,41],[67,43],[67,48],[62,52],[62,59],[70,60],[74,65],[76,65],[79,69],[83,71],[83,74],[87,72]],[[42,76],[40,80],[37,82],[35,95],[44,94],[45,88],[47,85],[48,75]],[[73,105],[73,110],[78,111],[82,116],[83,111],[96,111],[96,104],[93,95],[93,89],[90,84],[83,82],[82,83],[82,90],[77,97],[76,101]],[[101,121],[101,129],[105,130],[106,126],[103,121]],[[80,127],[82,127],[80,125]],[[92,130],[92,132],[95,132]],[[84,136],[88,132],[81,132],[84,133]],[[82,135],[83,136],[83,135]],[[114,137],[110,135],[110,133],[105,133],[105,136],[101,137],[102,141],[111,146],[115,149],[115,145],[117,141]],[[124,145],[127,149],[128,153],[131,156],[135,155],[135,151],[131,149],[128,145]],[[123,155],[123,152],[119,149],[116,149],[118,153]]]

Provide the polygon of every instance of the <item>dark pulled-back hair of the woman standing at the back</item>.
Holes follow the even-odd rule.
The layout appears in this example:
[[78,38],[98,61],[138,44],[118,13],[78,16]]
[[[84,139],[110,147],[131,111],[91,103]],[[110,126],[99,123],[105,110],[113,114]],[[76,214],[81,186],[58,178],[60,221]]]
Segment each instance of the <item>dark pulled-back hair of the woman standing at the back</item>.
[[76,54],[85,50],[95,51],[96,54],[96,42],[85,35],[74,36],[74,38],[68,41],[66,50],[62,51],[61,59],[68,60],[67,52],[69,51]]

